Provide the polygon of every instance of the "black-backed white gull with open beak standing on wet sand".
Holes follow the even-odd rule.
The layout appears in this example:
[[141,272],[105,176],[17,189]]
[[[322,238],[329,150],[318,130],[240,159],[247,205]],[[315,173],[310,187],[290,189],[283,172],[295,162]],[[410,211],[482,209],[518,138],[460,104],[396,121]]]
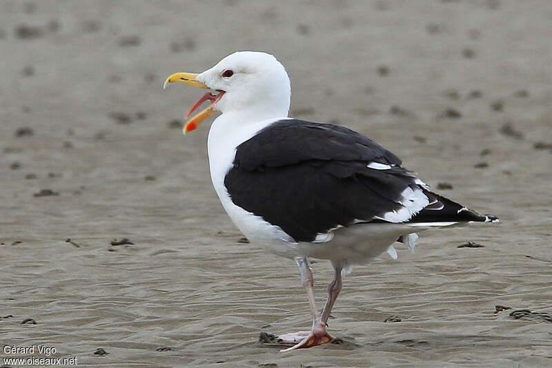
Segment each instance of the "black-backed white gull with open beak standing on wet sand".
[[[200,74],[177,72],[173,82],[205,88],[186,113],[207,108],[184,125],[184,134],[220,112],[210,127],[211,180],[237,228],[264,249],[293,259],[313,317],[311,331],[279,336],[282,351],[326,344],[342,277],[354,265],[387,252],[394,243],[415,249],[417,233],[469,222],[498,222],[433,193],[385,148],[354,130],[288,117],[286,69],[265,52],[228,55]],[[309,258],[329,260],[334,277],[318,313]]]

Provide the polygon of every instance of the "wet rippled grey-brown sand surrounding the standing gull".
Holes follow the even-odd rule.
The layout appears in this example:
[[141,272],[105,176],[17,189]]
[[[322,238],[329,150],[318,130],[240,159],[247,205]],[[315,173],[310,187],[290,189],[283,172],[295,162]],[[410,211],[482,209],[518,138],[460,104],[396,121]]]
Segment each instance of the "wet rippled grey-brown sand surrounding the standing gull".
[[[551,14],[546,0],[2,1],[0,342],[56,353],[1,358],[552,366],[536,314],[552,313]],[[284,63],[293,116],[368,135],[502,222],[357,267],[330,321],[346,344],[259,344],[311,324],[296,266],[238,242],[210,184],[208,124],[179,129],[200,93],[161,90],[235,50]],[[313,271],[322,304],[331,267]]]

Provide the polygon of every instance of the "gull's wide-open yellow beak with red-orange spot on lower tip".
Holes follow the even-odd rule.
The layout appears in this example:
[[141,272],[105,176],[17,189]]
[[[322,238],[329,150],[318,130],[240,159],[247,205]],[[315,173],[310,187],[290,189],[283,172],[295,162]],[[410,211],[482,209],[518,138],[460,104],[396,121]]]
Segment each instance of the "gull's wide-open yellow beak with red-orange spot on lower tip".
[[[200,81],[195,80],[197,77],[197,74],[191,73],[191,72],[177,72],[173,75],[170,75],[167,79],[165,79],[165,83],[163,84],[163,88],[166,88],[166,86],[173,82],[179,82],[188,84],[188,86],[193,86],[197,88],[209,88],[205,84],[201,83]],[[224,95],[224,90],[219,90],[218,95],[213,95],[213,93],[206,93],[205,95],[201,96],[199,100],[188,110],[188,113],[186,113],[186,119],[192,115],[192,113],[199,107],[201,104],[204,103],[204,101],[209,100],[210,105],[201,113],[195,115],[191,119],[186,122],[184,125],[183,133],[186,134],[192,130],[197,129],[199,124],[204,122],[205,119],[207,119],[210,115],[213,115],[215,113],[215,110],[213,110],[213,106],[221,99],[222,95]]]

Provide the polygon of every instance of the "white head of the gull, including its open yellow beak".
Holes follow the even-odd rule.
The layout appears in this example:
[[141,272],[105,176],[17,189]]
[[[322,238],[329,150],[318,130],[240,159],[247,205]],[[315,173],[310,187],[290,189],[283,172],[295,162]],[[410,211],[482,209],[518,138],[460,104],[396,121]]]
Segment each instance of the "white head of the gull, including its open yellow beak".
[[262,119],[288,115],[291,96],[288,73],[273,55],[266,52],[234,52],[200,74],[175,73],[166,79],[164,87],[172,82],[213,90],[188,110],[186,118],[204,101],[211,103],[188,120],[184,133],[197,128],[215,111],[223,114],[243,112]]

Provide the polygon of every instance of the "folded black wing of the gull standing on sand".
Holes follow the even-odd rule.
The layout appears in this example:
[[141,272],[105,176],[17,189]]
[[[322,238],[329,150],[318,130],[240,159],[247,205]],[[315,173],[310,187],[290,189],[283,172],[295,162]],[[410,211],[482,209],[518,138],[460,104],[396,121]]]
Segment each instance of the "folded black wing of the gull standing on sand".
[[[389,168],[368,167],[374,162]],[[400,164],[393,153],[353,130],[289,119],[240,144],[224,184],[237,206],[297,242],[312,242],[339,225],[404,215],[404,191],[421,188]]]

